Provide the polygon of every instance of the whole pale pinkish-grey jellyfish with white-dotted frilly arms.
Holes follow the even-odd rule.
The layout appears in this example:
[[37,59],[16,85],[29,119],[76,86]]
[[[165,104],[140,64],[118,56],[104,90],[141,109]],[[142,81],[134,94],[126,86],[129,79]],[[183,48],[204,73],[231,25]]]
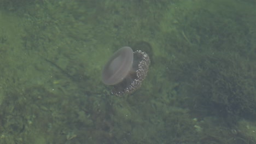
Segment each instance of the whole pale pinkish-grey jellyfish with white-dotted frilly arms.
[[112,93],[123,95],[131,93],[141,86],[147,76],[150,59],[146,52],[132,51],[125,46],[109,59],[102,70],[102,81],[112,85]]

